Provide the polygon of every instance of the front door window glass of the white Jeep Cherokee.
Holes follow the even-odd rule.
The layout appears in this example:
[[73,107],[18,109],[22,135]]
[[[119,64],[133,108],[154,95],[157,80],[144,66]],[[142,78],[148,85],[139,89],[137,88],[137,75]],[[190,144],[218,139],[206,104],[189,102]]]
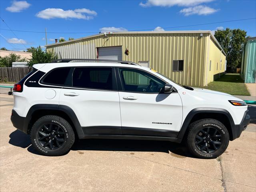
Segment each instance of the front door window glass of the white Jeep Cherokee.
[[118,68],[124,91],[159,93],[165,82],[142,70]]

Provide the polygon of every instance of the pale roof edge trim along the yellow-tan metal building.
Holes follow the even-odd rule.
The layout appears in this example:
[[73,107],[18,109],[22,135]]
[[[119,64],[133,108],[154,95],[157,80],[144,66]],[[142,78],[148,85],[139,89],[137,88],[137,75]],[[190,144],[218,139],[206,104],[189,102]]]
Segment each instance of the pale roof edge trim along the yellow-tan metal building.
[[[226,56],[226,53],[224,52],[224,50],[220,46],[219,42],[216,40],[216,38],[214,37],[214,35],[212,34],[212,32],[210,30],[197,30],[197,31],[126,31],[126,32],[112,32],[111,34],[170,34],[170,33],[180,33],[180,34],[183,34],[183,33],[207,33],[207,34],[210,34],[210,36],[212,37],[214,42],[218,45],[218,47],[222,50],[222,52]],[[91,35],[91,36],[82,37],[82,38],[78,38],[78,39],[74,39],[74,40],[68,40],[68,41],[64,41],[64,42],[45,45],[45,47],[50,48],[51,46],[61,46],[61,45],[64,45],[64,44],[68,44],[70,42],[75,43],[75,42],[80,41],[80,40],[86,40],[86,39],[89,39],[89,38],[94,38],[94,37],[97,37],[97,36],[104,36],[104,35],[105,35],[104,33]]]

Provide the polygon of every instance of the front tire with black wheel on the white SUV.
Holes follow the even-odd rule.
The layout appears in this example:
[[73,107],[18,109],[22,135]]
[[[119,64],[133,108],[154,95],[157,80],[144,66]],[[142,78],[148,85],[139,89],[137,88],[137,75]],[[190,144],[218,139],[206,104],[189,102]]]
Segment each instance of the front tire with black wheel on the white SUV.
[[198,158],[217,158],[226,150],[228,143],[228,130],[218,120],[202,119],[189,126],[186,144]]

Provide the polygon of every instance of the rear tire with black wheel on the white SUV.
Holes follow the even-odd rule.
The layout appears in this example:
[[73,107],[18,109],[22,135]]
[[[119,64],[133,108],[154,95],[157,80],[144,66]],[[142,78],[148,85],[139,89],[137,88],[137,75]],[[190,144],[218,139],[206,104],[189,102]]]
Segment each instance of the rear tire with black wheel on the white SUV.
[[74,144],[75,134],[64,118],[47,115],[34,123],[30,130],[30,138],[32,145],[40,154],[61,156]]

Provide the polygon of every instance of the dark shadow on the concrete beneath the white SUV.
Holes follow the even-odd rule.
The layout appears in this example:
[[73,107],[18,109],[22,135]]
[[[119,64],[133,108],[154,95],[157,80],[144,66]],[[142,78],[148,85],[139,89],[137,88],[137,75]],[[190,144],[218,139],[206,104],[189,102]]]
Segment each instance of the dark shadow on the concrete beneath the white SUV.
[[[9,143],[21,148],[28,147],[28,152],[41,155],[31,145],[30,136],[19,130],[16,130],[10,134]],[[172,156],[178,158],[192,157],[184,144],[168,141],[84,139],[75,142],[71,150],[164,152],[168,154],[172,152]]]

